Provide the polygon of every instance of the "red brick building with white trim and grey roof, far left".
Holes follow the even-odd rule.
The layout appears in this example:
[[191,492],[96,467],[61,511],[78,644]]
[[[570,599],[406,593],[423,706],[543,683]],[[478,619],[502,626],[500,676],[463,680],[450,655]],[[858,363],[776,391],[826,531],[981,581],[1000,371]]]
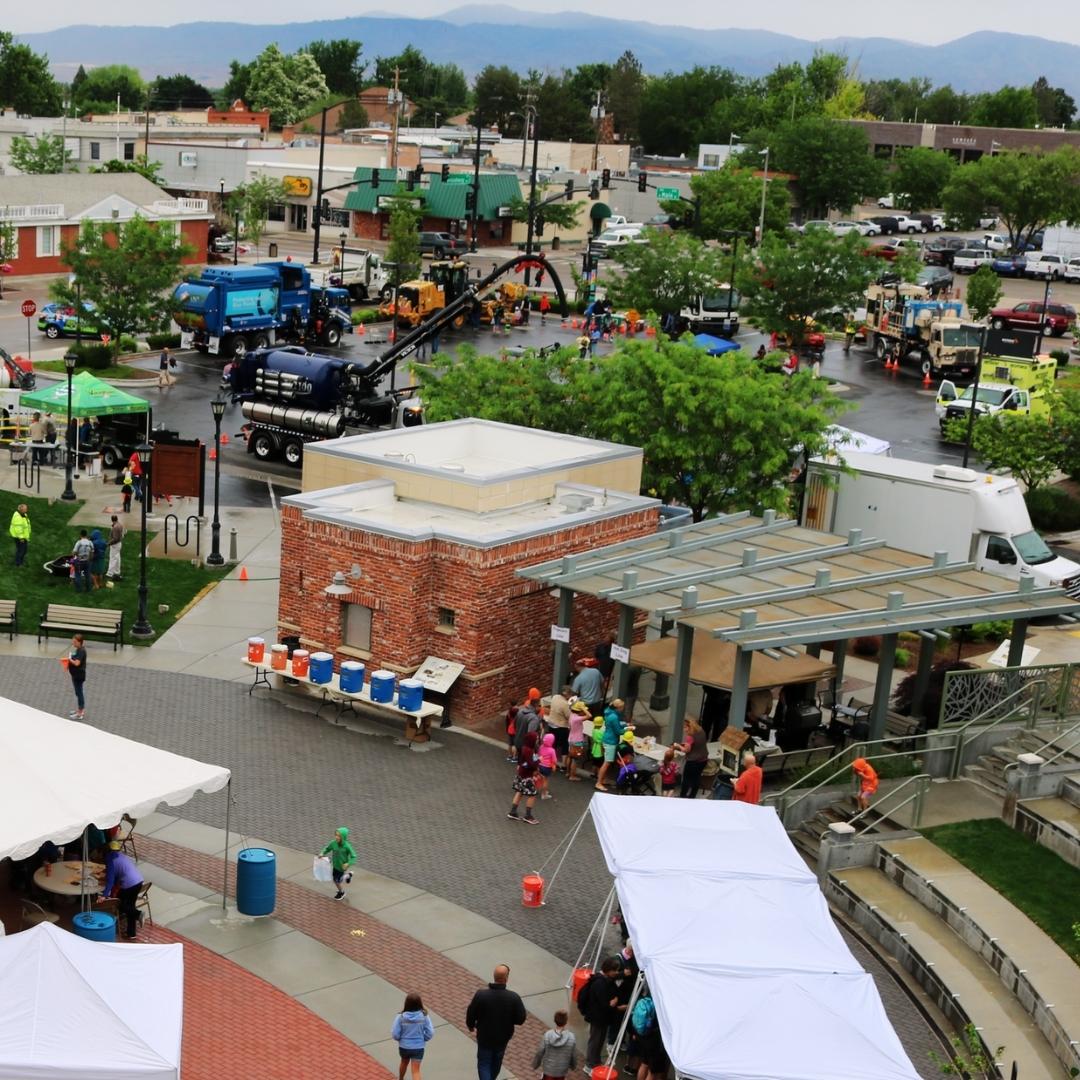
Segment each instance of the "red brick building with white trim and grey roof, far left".
[[138,215],[174,229],[192,248],[185,262],[206,261],[214,215],[205,199],[173,199],[138,173],[55,173],[0,176],[0,220],[14,227],[4,261],[16,274],[65,273],[63,249],[83,221],[130,221]]

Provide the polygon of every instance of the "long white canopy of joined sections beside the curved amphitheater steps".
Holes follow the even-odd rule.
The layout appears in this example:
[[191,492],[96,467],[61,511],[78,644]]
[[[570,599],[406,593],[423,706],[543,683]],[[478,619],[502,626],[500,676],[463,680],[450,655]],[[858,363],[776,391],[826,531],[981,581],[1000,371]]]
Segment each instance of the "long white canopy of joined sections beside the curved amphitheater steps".
[[594,796],[664,1047],[694,1080],[917,1080],[771,808]]

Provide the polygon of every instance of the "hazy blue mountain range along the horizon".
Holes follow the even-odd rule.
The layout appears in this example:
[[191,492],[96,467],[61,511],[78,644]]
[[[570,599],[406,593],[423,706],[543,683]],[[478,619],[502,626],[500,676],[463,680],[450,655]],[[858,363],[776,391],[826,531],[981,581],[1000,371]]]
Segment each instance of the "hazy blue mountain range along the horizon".
[[1080,99],[1080,45],[1018,33],[982,30],[940,45],[893,38],[807,41],[771,30],[703,30],[686,26],[602,18],[577,12],[537,13],[499,4],[470,4],[434,18],[378,12],[352,18],[253,25],[184,23],[176,26],[68,26],[19,40],[48,54],[58,78],[80,64],[132,64],[145,78],[185,72],[211,86],[224,84],[231,59],[249,60],[270,42],[286,52],[318,39],[352,38],[363,56],[391,56],[407,44],[438,63],[473,76],[485,64],[517,71],[558,70],[615,60],[630,50],[647,72],[694,65],[764,75],[778,64],[809,60],[816,50],[847,54],[863,79],[924,76],[956,90],[1030,85],[1045,76]]

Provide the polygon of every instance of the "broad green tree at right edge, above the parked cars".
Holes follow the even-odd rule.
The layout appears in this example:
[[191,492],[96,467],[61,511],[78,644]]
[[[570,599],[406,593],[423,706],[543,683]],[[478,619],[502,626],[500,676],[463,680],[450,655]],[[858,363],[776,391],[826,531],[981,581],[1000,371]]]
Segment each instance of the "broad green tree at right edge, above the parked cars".
[[964,227],[993,210],[1012,249],[1023,251],[1038,229],[1080,222],[1080,150],[984,154],[954,172],[942,203]]

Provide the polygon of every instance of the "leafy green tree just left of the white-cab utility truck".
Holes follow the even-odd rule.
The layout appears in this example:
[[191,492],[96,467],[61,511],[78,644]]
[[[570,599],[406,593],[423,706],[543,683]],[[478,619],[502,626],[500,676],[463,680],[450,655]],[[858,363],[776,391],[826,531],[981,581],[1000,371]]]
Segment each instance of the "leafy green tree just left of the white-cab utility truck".
[[743,262],[737,283],[757,325],[787,334],[797,348],[808,320],[859,307],[876,262],[864,247],[854,232],[834,237],[827,229],[808,229],[794,242],[766,233],[756,258]]

